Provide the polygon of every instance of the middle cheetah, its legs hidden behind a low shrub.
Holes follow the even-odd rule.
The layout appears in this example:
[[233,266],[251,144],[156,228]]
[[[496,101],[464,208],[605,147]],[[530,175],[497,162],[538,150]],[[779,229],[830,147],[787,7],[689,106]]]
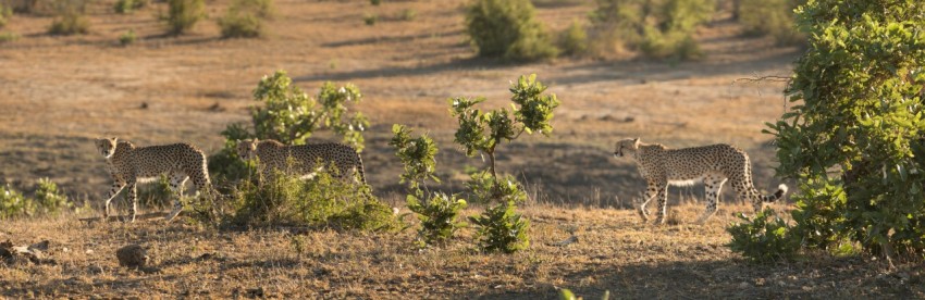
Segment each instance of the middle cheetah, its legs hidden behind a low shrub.
[[350,146],[337,142],[309,143],[287,146],[272,139],[245,139],[237,143],[237,153],[243,160],[258,159],[262,164],[263,178],[273,179],[274,170],[288,170],[288,159],[293,158],[296,165],[294,172],[303,175],[303,178],[311,178],[314,173],[323,166],[322,163],[331,163],[337,170],[334,173],[341,178],[345,175],[353,177],[355,171],[359,175],[359,182],[366,184],[363,163],[357,150]]

